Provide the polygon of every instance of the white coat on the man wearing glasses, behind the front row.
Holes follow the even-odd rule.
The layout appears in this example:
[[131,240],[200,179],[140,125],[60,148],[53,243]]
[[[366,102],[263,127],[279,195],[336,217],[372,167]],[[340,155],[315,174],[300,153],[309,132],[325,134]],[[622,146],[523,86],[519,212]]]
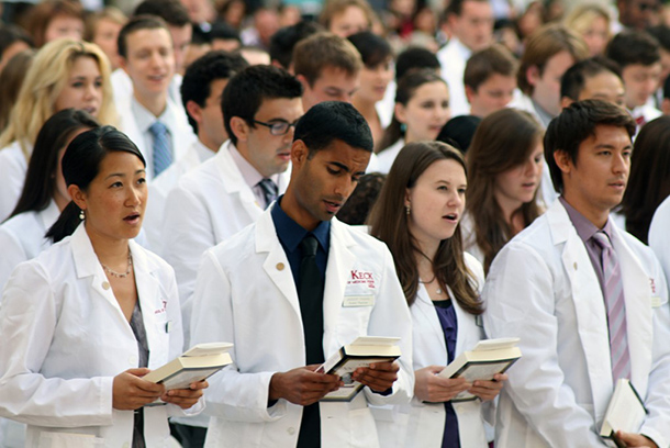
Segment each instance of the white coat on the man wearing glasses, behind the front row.
[[[190,302],[202,254],[263,214],[230,145],[227,141],[214,157],[182,176],[166,202],[160,255],[175,268],[189,347]],[[288,183],[289,175],[279,175],[279,194]]]

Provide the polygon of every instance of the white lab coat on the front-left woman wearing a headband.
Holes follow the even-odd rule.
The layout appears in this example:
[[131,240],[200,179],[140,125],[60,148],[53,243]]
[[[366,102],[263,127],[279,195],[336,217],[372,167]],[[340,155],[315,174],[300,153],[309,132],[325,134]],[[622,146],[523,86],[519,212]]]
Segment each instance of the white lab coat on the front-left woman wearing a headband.
[[[165,261],[129,244],[155,369],[182,350],[177,285]],[[112,408],[112,383],[137,367],[137,343],[83,225],[14,270],[0,340],[0,416],[29,425],[27,447],[130,446],[133,412]],[[202,401],[188,412],[201,407]],[[185,412],[167,405],[144,415],[147,446],[164,447],[168,415]]]

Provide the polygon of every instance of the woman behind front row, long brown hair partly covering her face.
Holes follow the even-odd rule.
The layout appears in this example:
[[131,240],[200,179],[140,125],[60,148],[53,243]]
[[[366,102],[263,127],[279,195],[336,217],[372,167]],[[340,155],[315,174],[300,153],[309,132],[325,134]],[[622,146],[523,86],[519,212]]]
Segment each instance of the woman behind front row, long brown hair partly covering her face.
[[543,212],[537,190],[543,172],[543,130],[527,112],[503,109],[477,127],[468,150],[465,249],[484,267],[514,235]]

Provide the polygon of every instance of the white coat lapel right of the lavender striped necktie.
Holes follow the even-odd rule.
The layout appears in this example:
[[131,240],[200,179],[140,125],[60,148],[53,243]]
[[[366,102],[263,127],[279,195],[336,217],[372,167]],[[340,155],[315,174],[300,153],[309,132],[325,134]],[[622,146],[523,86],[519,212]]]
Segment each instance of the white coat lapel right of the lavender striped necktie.
[[614,227],[612,245],[618,256],[624,281],[626,304],[626,337],[630,354],[630,380],[637,392],[647,394],[654,345],[652,311],[649,294],[649,276],[641,269],[637,256],[630,250],[618,228]]

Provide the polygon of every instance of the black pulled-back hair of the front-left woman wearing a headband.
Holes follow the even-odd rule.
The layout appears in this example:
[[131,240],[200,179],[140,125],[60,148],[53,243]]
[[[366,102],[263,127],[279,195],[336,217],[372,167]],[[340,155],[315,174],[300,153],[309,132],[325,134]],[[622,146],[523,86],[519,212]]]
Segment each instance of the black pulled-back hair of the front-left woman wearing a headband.
[[[146,167],[146,161],[137,146],[114,126],[96,127],[77,135],[67,146],[63,156],[62,166],[65,183],[68,187],[75,184],[80,190],[87,191],[93,179],[98,177],[100,164],[107,155],[120,152],[137,156]],[[71,235],[81,223],[80,213],[81,210],[75,201],[70,201],[45,236],[54,243],[58,243],[66,236]]]

